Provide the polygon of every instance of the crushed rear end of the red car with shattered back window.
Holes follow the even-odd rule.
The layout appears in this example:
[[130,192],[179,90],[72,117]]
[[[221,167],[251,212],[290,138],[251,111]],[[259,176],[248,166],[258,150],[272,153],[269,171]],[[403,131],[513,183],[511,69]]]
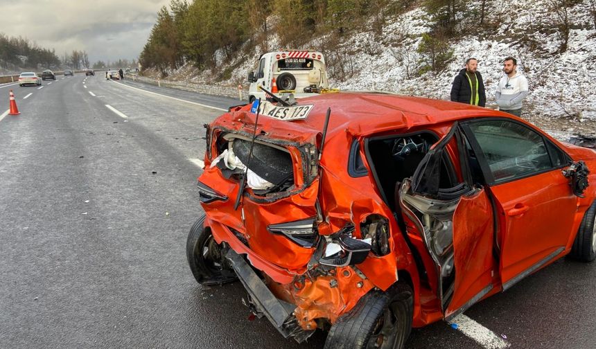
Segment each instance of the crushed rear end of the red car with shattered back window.
[[[389,233],[398,227],[370,178],[346,170],[356,140],[341,127],[346,120],[331,116],[324,140],[326,107],[315,104],[308,120],[291,122],[256,120],[250,106],[220,116],[206,125],[198,179],[203,224],[219,244],[216,264],[234,269],[256,314],[298,341],[414,268],[403,239]],[[200,283],[229,280],[208,279]]]

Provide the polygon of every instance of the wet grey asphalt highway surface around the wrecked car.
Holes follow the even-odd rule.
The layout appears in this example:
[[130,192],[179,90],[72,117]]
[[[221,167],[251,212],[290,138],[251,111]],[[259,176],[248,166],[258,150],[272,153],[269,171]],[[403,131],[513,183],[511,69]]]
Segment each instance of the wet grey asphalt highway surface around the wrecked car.
[[[203,287],[186,263],[203,124],[238,101],[124,83],[0,85],[0,114],[9,89],[21,111],[0,120],[0,348],[322,348],[250,321],[240,283]],[[465,316],[511,348],[594,348],[595,299],[596,263],[563,259]],[[406,348],[491,348],[454,327]]]

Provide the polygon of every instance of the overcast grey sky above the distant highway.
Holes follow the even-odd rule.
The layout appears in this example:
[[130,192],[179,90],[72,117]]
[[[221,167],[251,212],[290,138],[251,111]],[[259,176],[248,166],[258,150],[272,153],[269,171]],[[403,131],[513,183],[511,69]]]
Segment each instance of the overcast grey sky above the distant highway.
[[97,60],[132,60],[157,11],[170,0],[0,0],[0,33],[26,37],[56,55],[85,50]]

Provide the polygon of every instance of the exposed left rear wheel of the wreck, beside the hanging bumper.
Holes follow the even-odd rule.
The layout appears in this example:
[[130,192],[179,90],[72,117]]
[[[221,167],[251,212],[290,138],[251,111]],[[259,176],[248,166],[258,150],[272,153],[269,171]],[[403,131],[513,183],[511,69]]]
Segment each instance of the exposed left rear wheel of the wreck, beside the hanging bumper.
[[193,224],[186,240],[186,259],[193,276],[201,285],[223,285],[236,281],[236,273],[222,256],[220,244],[213,239],[211,229],[204,226],[205,216]]

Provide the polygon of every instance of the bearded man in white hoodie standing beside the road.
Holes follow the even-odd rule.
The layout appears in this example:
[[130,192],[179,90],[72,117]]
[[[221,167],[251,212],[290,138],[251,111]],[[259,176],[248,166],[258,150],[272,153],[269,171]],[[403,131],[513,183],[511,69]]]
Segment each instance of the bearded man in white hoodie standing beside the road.
[[522,101],[528,93],[527,79],[517,71],[518,62],[507,57],[503,62],[505,75],[499,80],[496,102],[500,111],[521,116]]

